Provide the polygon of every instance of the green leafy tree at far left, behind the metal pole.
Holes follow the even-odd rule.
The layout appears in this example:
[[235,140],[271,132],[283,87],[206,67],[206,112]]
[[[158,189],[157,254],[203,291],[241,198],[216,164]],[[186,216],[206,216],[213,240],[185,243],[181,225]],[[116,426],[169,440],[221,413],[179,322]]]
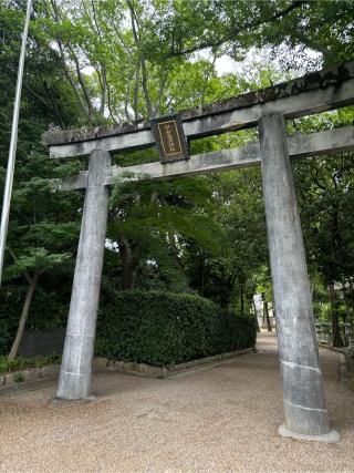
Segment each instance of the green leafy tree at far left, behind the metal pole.
[[[12,2],[6,2],[0,7],[0,84],[3,91],[0,99],[0,160],[3,165],[0,172],[1,195],[23,27],[23,11],[21,8],[11,8],[12,6]],[[4,260],[6,284],[1,288],[2,294],[6,294],[8,285],[11,284],[12,288],[18,287],[21,291],[22,279],[28,285],[10,358],[15,356],[21,341],[40,276],[51,273],[52,268],[67,260],[77,235],[77,212],[73,206],[76,196],[60,202],[58,195],[53,194],[49,178],[60,174],[56,165],[48,160],[41,144],[41,133],[53,121],[62,125],[71,124],[75,119],[74,112],[77,112],[74,107],[64,110],[61,106],[60,97],[69,99],[70,92],[56,82],[59,71],[51,55],[42,50],[37,51],[35,38],[32,38],[28,47],[21,101],[17,166]],[[3,315],[6,316],[7,313]]]

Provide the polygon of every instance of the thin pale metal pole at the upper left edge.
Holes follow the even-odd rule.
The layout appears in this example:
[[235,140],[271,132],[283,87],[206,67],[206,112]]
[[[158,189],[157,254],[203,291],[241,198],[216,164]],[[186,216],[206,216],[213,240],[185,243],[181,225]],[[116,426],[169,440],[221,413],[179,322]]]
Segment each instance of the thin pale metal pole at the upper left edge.
[[3,203],[1,212],[1,226],[0,226],[0,286],[2,279],[2,267],[3,267],[3,255],[4,247],[7,243],[7,233],[9,224],[9,214],[10,214],[10,203],[12,194],[12,183],[13,183],[13,172],[14,172],[14,161],[15,161],[15,151],[18,144],[18,127],[19,127],[19,112],[20,112],[20,101],[21,101],[21,91],[22,91],[22,78],[23,78],[23,65],[24,65],[24,55],[25,55],[25,44],[27,37],[29,32],[30,16],[31,16],[32,0],[27,2],[27,12],[25,12],[25,22],[22,34],[22,44],[21,44],[21,54],[19,62],[18,71],[18,82],[15,86],[14,95],[14,106],[13,106],[13,117],[12,117],[12,128],[11,128],[11,141],[9,148],[9,160],[8,160],[8,171],[3,193]]

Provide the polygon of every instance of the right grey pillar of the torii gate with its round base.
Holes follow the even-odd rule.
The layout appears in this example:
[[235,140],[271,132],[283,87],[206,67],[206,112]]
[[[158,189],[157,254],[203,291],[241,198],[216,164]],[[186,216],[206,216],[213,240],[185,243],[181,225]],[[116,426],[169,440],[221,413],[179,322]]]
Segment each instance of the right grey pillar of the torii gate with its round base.
[[325,442],[330,431],[302,230],[280,113],[259,121],[262,181],[285,423],[279,433]]

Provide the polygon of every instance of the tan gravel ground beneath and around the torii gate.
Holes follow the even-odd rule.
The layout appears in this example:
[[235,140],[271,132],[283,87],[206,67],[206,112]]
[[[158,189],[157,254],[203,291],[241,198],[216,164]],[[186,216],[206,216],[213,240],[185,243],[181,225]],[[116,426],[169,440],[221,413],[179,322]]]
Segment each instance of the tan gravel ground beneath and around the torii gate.
[[273,335],[258,354],[166,380],[94,377],[96,401],[49,403],[55,387],[0,398],[1,472],[354,472],[354,393],[321,350],[337,444],[277,434],[282,393]]

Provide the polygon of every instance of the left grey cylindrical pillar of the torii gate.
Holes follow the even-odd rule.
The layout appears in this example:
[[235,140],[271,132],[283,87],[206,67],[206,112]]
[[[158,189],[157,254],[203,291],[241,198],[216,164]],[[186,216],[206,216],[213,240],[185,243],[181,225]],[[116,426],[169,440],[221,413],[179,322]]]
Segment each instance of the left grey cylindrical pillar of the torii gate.
[[85,203],[63,360],[56,397],[86,399],[90,394],[104,243],[108,213],[105,186],[111,155],[95,150],[90,155]]

